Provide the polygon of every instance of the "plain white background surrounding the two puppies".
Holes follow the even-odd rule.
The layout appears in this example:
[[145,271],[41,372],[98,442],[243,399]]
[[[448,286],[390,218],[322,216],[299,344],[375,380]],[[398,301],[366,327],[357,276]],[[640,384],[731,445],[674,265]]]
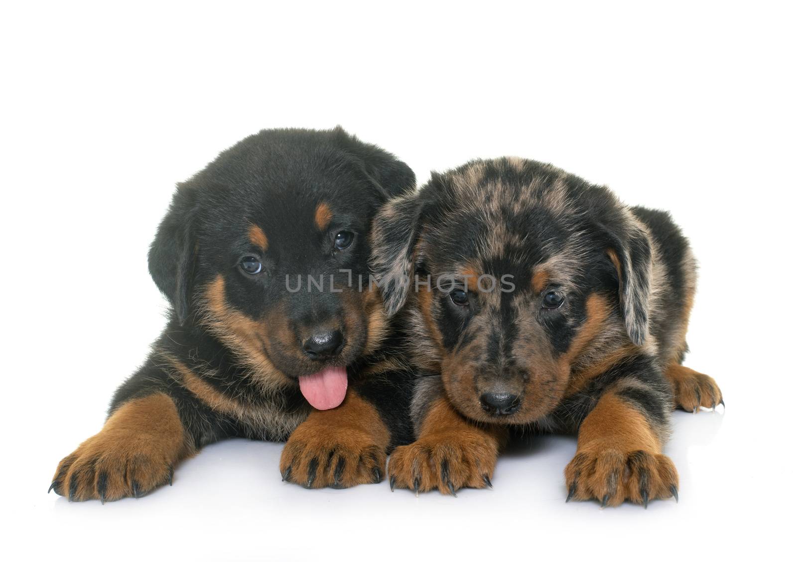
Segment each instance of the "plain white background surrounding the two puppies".
[[[275,2],[277,4],[277,2]],[[4,4],[0,552],[34,559],[658,560],[794,528],[795,14],[787,2]],[[286,8],[288,4],[291,7]],[[207,447],[147,498],[47,495],[163,326],[147,246],[176,181],[265,127],[348,131],[426,181],[516,154],[672,211],[701,260],[681,503],[564,503],[571,437],[459,498],[280,482]],[[789,548],[791,551],[791,548]]]

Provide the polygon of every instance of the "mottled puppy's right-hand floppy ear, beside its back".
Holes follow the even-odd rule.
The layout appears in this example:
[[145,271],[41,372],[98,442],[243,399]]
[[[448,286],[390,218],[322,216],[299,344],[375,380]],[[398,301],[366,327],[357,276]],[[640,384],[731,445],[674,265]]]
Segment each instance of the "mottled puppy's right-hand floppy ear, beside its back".
[[620,307],[626,331],[634,345],[642,345],[648,336],[650,275],[653,262],[650,239],[630,216],[610,232],[607,254],[620,281]]

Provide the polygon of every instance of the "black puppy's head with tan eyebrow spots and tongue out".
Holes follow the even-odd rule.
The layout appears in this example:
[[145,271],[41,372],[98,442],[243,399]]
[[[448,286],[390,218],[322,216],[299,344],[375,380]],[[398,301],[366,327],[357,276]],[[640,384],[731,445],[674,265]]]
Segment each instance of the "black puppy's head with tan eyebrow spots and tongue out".
[[356,282],[371,221],[413,187],[405,164],[340,128],[261,131],[178,186],[151,275],[175,322],[210,331],[266,387],[298,381],[333,407],[386,330],[377,291]]

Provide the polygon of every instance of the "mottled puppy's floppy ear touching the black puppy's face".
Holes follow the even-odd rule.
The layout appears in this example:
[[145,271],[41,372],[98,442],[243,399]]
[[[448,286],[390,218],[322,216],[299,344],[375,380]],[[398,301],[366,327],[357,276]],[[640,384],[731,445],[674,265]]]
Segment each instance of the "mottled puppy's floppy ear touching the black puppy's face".
[[388,317],[404,306],[410,287],[414,287],[422,209],[418,193],[396,197],[383,206],[371,226],[371,269]]

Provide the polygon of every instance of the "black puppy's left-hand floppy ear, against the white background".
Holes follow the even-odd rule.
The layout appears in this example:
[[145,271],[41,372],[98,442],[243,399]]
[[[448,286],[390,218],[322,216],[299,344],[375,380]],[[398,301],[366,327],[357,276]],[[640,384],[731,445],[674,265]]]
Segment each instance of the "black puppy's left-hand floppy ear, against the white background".
[[149,251],[149,270],[155,285],[169,299],[180,324],[186,320],[194,273],[195,189],[179,185]]

